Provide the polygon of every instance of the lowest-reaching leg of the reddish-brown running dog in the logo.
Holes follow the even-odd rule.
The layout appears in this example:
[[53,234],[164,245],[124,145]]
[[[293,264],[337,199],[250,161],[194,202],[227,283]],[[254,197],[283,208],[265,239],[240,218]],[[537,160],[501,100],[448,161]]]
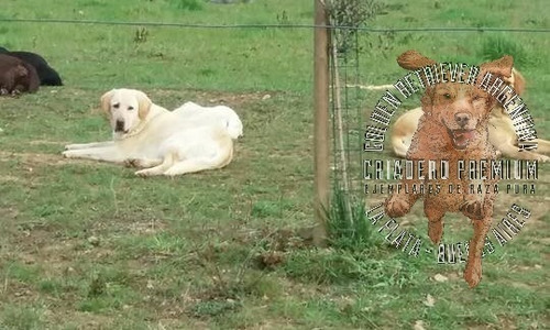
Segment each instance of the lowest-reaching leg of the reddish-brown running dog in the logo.
[[474,237],[470,241],[464,279],[470,287],[475,287],[482,277],[482,252],[485,245],[485,237],[491,228],[491,217],[472,221],[474,224]]

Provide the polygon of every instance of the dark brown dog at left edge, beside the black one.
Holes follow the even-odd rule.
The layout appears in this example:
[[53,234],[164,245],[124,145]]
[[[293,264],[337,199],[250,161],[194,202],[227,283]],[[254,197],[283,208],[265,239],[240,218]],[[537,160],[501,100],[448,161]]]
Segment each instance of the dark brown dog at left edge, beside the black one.
[[34,66],[16,57],[0,54],[0,95],[38,90],[40,78]]

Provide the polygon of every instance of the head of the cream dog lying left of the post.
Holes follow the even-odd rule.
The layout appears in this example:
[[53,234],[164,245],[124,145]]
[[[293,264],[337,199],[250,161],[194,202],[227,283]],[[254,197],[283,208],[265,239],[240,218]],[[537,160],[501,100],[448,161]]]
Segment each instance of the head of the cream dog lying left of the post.
[[147,117],[151,106],[151,99],[141,90],[112,89],[101,96],[101,110],[118,138],[131,133]]

